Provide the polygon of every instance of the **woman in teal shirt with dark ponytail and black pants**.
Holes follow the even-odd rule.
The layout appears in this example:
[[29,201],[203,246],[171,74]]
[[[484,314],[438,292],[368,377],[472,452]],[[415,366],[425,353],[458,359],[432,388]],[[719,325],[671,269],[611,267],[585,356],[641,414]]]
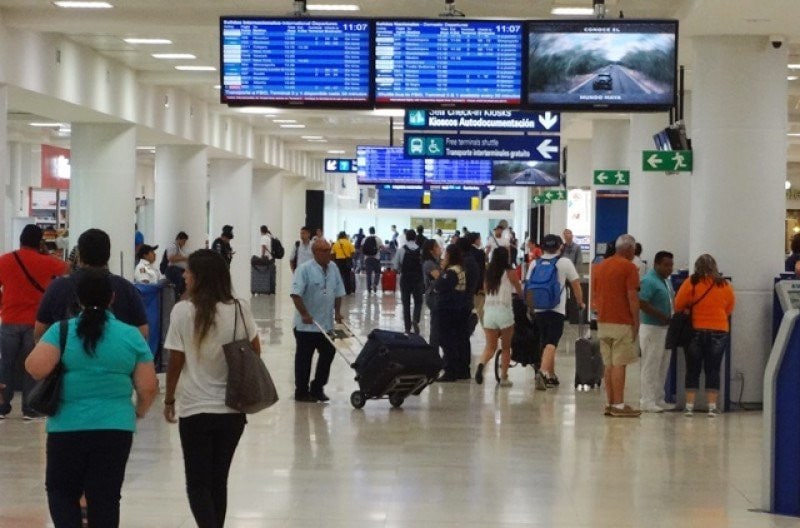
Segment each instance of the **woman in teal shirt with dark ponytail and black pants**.
[[61,325],[52,325],[25,368],[41,379],[59,362],[64,366],[59,409],[47,419],[45,485],[55,527],[81,525],[85,493],[89,526],[113,528],[136,418],[153,403],[158,384],[142,334],[108,310],[114,297],[108,272],[87,269],[77,293],[82,311],[68,321],[64,350]]

